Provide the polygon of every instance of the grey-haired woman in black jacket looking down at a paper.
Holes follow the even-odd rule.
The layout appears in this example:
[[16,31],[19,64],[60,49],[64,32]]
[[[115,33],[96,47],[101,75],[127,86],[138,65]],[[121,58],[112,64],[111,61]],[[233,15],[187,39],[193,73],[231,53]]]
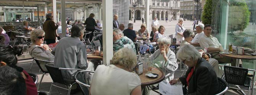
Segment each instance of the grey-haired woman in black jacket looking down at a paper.
[[177,52],[177,58],[188,65],[185,76],[172,79],[171,85],[181,81],[183,94],[215,95],[219,92],[218,78],[211,65],[201,58],[199,52],[191,44],[186,44]]

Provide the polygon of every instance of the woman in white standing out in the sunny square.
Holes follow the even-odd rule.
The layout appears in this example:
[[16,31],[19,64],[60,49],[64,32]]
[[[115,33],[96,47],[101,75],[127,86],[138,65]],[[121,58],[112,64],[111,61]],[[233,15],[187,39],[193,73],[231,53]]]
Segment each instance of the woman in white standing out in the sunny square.
[[183,25],[183,18],[178,19],[178,24],[176,24],[175,27],[175,38],[176,41],[183,41],[184,40],[184,36],[183,36],[183,32],[186,30],[184,25]]

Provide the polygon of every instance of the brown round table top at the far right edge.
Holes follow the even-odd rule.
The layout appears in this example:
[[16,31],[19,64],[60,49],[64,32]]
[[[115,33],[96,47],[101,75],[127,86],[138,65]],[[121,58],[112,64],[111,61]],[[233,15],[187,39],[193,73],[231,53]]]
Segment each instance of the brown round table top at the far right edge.
[[238,54],[224,54],[224,52],[220,52],[220,55],[224,55],[226,57],[231,57],[231,58],[235,58],[235,59],[256,59],[256,56],[250,56],[250,55],[238,55]]

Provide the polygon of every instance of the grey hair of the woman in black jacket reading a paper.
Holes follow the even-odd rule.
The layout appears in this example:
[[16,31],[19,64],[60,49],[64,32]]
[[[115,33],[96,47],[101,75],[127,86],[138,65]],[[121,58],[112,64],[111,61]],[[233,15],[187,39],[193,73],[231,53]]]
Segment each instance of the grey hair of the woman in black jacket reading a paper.
[[196,61],[201,58],[200,53],[196,48],[191,44],[186,44],[178,50],[177,59],[179,60],[188,60],[188,61]]

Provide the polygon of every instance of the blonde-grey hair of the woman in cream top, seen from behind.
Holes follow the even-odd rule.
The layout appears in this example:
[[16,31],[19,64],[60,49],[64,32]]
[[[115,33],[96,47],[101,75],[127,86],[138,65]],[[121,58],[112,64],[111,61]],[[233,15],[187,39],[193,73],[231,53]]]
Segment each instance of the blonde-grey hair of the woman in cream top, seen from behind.
[[132,49],[125,47],[115,52],[112,60],[110,60],[110,64],[121,65],[125,68],[131,69],[137,64],[137,56]]

